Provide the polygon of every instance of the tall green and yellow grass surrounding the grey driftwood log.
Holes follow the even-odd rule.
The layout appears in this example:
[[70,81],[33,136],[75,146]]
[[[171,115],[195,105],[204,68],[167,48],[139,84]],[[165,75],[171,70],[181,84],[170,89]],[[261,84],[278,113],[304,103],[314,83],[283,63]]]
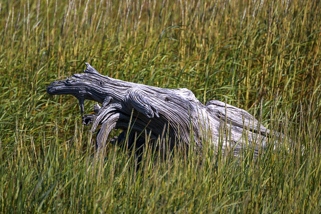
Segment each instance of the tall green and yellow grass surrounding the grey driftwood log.
[[[1,1],[0,212],[321,212],[320,12],[299,0]],[[208,150],[202,164],[146,151],[136,170],[109,146],[93,161],[77,99],[46,94],[85,62],[227,100],[290,149],[256,161]]]

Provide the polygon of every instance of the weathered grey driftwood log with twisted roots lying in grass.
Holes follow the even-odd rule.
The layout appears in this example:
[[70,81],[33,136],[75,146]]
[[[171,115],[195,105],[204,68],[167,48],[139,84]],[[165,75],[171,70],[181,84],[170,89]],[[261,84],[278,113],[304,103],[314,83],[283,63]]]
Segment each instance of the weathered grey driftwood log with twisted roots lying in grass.
[[130,129],[127,142],[135,143],[136,147],[149,139],[153,145],[158,142],[158,149],[172,150],[175,145],[190,149],[195,145],[193,148],[202,153],[204,142],[210,142],[214,148],[221,146],[223,152],[228,146],[234,155],[245,145],[252,145],[257,155],[266,146],[270,130],[243,109],[217,100],[203,105],[186,88],[164,89],[125,82],[103,76],[86,65],[83,74],[52,82],[47,93],[75,96],[81,115],[84,100],[101,104],[94,105],[96,114],[82,117],[83,124],[93,123],[92,132],[100,126],[96,136],[98,151],[104,147],[112,129],[123,130],[118,143],[124,141]]

